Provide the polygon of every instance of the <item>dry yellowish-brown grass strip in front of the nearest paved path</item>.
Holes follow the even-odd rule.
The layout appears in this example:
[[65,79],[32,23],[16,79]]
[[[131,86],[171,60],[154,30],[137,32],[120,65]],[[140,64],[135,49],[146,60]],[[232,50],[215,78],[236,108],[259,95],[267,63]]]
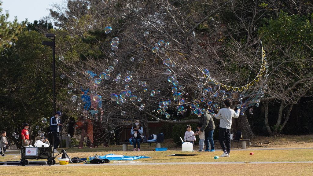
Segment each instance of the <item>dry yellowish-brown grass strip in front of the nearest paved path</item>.
[[63,176],[99,176],[99,175],[313,175],[312,163],[279,164],[188,164],[188,165],[143,165],[143,166],[32,166],[2,167],[3,175],[63,175]]

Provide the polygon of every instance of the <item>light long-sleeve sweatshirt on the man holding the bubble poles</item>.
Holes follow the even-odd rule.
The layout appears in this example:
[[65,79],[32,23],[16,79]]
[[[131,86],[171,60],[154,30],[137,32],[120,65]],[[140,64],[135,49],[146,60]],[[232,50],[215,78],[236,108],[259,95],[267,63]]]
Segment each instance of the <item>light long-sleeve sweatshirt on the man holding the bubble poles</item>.
[[233,109],[225,107],[219,110],[218,114],[215,115],[215,118],[221,119],[219,127],[230,129],[230,127],[232,126],[232,117],[238,118],[239,113],[240,113],[239,111],[235,112]]

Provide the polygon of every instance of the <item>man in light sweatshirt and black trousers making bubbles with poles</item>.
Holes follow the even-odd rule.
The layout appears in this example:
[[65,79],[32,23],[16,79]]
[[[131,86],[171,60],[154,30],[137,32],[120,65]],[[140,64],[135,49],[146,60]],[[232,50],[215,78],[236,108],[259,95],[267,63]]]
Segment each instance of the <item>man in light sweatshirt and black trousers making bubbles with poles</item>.
[[240,109],[235,112],[233,109],[229,108],[232,105],[232,101],[229,98],[227,98],[224,103],[225,107],[221,109],[218,114],[213,115],[215,118],[221,119],[221,122],[219,124],[219,143],[221,144],[224,153],[219,157],[229,157],[230,127],[232,126],[232,117],[238,118],[240,113]]

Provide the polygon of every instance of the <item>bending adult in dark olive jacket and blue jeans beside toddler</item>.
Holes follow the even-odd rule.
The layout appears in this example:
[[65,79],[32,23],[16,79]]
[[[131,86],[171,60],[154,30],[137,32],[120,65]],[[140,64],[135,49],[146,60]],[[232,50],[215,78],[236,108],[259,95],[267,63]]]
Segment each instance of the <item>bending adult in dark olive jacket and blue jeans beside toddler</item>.
[[[213,132],[215,129],[215,124],[213,121],[212,116],[209,114],[208,111],[204,111],[203,114],[199,114],[199,123],[202,124],[202,127],[200,128],[200,130],[197,129],[196,134],[200,134],[201,132],[204,131],[204,136],[205,136],[205,147],[206,149],[204,150],[204,152],[215,152],[214,149],[214,141],[213,141]],[[209,142],[211,144],[211,150],[209,149],[210,145]]]

